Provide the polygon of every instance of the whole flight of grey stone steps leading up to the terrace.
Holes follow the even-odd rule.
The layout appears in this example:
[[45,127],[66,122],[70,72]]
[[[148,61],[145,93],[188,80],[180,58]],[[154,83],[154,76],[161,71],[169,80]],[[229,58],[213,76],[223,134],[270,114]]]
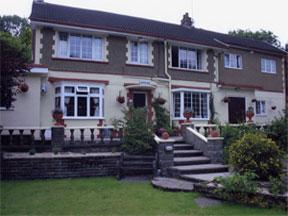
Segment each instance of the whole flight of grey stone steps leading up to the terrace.
[[174,143],[174,165],[168,168],[169,177],[191,182],[212,181],[214,177],[229,175],[228,166],[213,164],[193,145],[177,140]]

